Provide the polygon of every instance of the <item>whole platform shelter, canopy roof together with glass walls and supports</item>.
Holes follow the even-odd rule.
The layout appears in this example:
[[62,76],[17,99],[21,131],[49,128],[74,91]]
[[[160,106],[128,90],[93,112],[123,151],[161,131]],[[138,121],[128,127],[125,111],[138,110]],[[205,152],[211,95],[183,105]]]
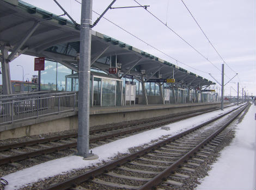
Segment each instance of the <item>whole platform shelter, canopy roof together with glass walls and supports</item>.
[[[18,0],[0,1],[0,22],[3,94],[13,93],[9,64],[21,54],[46,59],[40,90],[78,90],[79,25]],[[202,88],[215,84],[94,30],[91,70],[91,106],[201,102]]]

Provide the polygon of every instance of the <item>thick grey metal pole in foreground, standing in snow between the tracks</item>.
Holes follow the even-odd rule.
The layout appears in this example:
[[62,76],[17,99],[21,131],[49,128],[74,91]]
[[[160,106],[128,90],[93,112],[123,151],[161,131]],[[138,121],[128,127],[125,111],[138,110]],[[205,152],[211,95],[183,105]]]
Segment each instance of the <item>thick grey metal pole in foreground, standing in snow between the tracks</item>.
[[78,96],[78,155],[89,154],[89,109],[90,109],[90,53],[92,40],[92,4],[93,0],[82,0],[79,63]]

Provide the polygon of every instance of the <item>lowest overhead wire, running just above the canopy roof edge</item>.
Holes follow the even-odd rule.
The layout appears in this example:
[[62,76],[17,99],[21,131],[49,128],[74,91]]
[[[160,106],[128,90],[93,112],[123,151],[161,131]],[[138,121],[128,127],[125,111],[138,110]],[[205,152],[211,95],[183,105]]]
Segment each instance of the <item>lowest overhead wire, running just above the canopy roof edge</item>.
[[[79,2],[79,1],[77,1],[77,0],[75,0],[75,1],[76,1],[77,3],[80,3],[80,2]],[[81,3],[80,3],[80,4],[81,4]],[[97,14],[97,15],[100,15],[99,13],[97,13],[97,12],[96,12],[96,11],[94,11],[94,10],[93,10],[93,12],[94,12],[95,14]],[[142,39],[140,39],[139,37],[135,36],[134,34],[130,33],[130,31],[127,31],[126,29],[124,29],[124,28],[122,28],[122,27],[118,26],[118,25],[117,25],[117,24],[115,24],[114,22],[112,22],[112,21],[108,20],[106,17],[102,17],[102,18],[104,18],[104,19],[105,19],[105,20],[107,20],[108,22],[110,22],[110,23],[114,24],[114,26],[116,26],[116,27],[120,28],[121,30],[124,30],[126,33],[128,33],[128,34],[130,34],[131,36],[135,37],[135,38],[136,38],[136,39],[138,39],[139,41],[142,41],[143,43],[145,43],[146,45],[150,46],[151,48],[154,48],[154,49],[155,49],[155,50],[157,50],[158,52],[160,52],[160,53],[162,53],[162,54],[164,54],[164,55],[168,56],[169,58],[171,58],[171,59],[175,60],[176,62],[179,62],[180,64],[183,64],[183,65],[186,65],[187,67],[190,67],[190,68],[192,68],[192,69],[194,69],[194,70],[196,70],[196,71],[199,71],[199,72],[203,72],[203,73],[209,74],[209,72],[205,72],[205,71],[202,71],[202,70],[200,70],[200,69],[197,69],[197,68],[191,67],[191,66],[189,66],[189,65],[185,64],[184,62],[181,62],[181,61],[179,61],[178,59],[173,58],[172,56],[168,55],[167,53],[164,53],[162,50],[160,50],[160,49],[158,49],[158,48],[156,48],[156,47],[154,47],[154,46],[150,45],[148,42],[145,42],[144,40],[142,40]]]

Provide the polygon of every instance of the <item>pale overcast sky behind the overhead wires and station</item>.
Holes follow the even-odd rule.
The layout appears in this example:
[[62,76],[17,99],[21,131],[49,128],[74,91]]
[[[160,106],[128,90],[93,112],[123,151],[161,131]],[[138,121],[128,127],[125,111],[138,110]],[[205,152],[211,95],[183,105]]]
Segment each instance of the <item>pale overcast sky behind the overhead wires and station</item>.
[[[78,0],[81,2],[81,0]],[[143,5],[150,5],[149,11],[160,18],[167,26],[172,28],[176,33],[182,36],[188,43],[202,53],[214,66],[199,55],[194,49],[188,46],[166,26],[156,20],[143,8],[130,9],[112,9],[108,10],[105,17],[118,26],[130,31],[140,39],[149,43],[162,52],[172,56],[176,60],[169,58],[154,48],[139,41],[125,31],[114,26],[112,23],[104,20],[93,28],[93,30],[106,34],[119,41],[123,41],[131,46],[144,50],[163,60],[169,61],[175,65],[187,69],[202,77],[215,81],[208,73],[221,83],[221,64],[223,61],[220,56],[211,47],[208,40],[198,28],[196,22],[182,4],[181,0],[137,0]],[[35,5],[41,9],[50,11],[54,14],[63,14],[63,11],[52,1],[35,1],[25,0],[25,2]],[[74,18],[77,23],[81,19],[81,5],[75,0],[58,0],[66,11]],[[101,12],[106,9],[112,0],[93,0],[93,10]],[[235,77],[225,86],[225,95],[230,94],[236,96],[237,82],[240,87],[245,87],[249,95],[256,95],[256,24],[255,24],[255,1],[254,0],[184,0],[188,9],[192,12],[199,25],[209,37],[211,43],[215,46],[222,58],[231,67],[224,67],[225,83],[235,73],[239,73],[239,77]],[[137,5],[133,0],[117,0],[113,7],[124,7]],[[93,21],[98,16],[93,13]],[[11,80],[22,80],[22,68],[16,65],[23,65],[25,80],[33,74],[34,58],[22,55],[10,63]],[[193,67],[193,68],[191,68]],[[217,69],[217,68],[218,69]],[[1,83],[2,83],[2,79]],[[217,84],[217,83],[216,83]],[[219,85],[218,85],[219,86]],[[233,90],[233,87],[235,90]]]

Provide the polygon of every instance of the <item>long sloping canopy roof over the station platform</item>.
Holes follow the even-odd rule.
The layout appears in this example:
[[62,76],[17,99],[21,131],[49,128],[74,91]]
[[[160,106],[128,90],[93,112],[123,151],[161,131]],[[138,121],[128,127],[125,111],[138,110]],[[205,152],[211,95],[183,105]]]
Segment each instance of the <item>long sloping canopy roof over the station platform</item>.
[[[16,56],[44,56],[78,71],[80,30],[74,23],[18,0],[0,1],[0,44]],[[172,78],[175,85],[197,87],[212,81],[112,37],[92,30],[91,67],[108,72],[111,58],[121,64],[119,77],[130,73],[145,81]],[[10,60],[15,59],[15,56]],[[145,70],[145,73],[143,72]],[[118,78],[118,74],[110,74]]]

